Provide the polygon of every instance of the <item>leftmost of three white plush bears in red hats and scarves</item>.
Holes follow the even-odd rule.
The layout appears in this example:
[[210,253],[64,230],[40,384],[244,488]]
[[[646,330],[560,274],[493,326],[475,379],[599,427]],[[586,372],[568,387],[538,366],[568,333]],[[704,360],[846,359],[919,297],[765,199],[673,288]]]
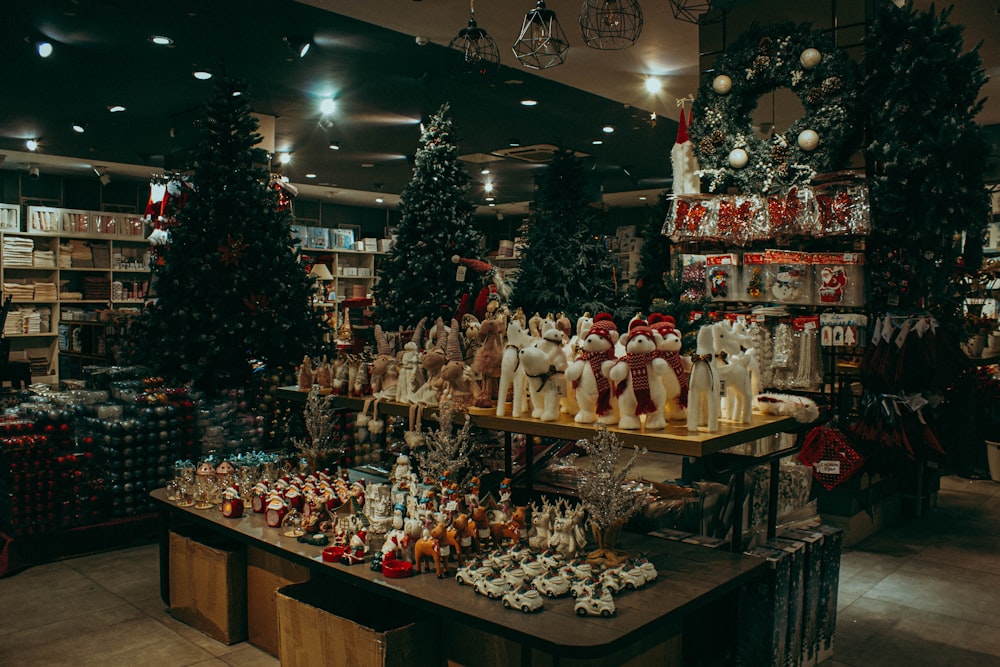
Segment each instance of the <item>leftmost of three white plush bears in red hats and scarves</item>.
[[566,379],[576,389],[578,424],[618,423],[618,401],[607,372],[614,365],[618,329],[611,315],[598,313],[580,340],[580,355],[566,369]]

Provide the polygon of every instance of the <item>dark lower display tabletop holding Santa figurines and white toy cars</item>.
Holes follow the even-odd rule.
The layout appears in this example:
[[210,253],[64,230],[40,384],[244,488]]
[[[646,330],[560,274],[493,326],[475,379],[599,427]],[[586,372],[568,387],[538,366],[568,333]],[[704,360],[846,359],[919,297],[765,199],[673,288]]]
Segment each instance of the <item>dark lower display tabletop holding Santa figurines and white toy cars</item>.
[[[499,602],[477,595],[451,578],[439,580],[433,574],[422,574],[386,579],[381,572],[373,572],[367,562],[355,566],[324,563],[320,548],[282,536],[279,529],[267,527],[260,514],[227,519],[217,509],[178,507],[166,499],[164,489],[153,491],[151,496],[162,517],[160,590],[167,605],[170,604],[168,531],[175,524],[194,523],[306,565],[314,578],[329,577],[337,583],[353,585],[372,596],[368,604],[404,604],[442,621],[465,624],[517,642],[522,655],[529,660],[532,649],[554,658],[597,658],[648,640],[650,633],[663,639],[675,637],[681,632],[686,616],[725,596],[735,596],[744,583],[764,570],[761,559],[623,534],[622,546],[649,558],[659,577],[643,589],[616,596],[616,616],[578,617],[573,612],[572,598],[546,599],[540,613],[523,614],[505,609]],[[716,630],[720,637],[734,637],[736,632],[735,627]]]

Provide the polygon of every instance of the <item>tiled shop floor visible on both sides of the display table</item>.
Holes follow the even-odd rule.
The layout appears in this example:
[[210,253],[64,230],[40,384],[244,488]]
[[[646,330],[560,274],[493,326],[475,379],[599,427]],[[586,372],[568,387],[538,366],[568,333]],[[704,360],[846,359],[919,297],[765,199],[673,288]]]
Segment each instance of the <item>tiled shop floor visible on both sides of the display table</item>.
[[[841,563],[829,667],[1000,666],[1000,483],[945,478],[936,509]],[[171,618],[158,568],[143,546],[0,579],[0,666],[278,664]]]

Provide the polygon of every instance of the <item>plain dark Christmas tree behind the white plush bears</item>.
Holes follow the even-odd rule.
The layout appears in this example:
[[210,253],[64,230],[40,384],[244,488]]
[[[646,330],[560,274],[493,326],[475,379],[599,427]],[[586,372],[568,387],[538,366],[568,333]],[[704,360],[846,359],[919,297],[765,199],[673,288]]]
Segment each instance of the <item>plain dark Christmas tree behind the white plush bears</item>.
[[559,150],[541,183],[511,302],[526,313],[611,311],[616,262],[598,236],[603,213],[591,205],[583,162]]

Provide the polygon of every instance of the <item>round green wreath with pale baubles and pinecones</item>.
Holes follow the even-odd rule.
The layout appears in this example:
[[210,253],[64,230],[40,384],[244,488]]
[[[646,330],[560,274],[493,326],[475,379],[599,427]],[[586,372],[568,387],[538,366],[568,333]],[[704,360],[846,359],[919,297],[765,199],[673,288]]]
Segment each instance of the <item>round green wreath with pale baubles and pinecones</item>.
[[[805,109],[785,132],[759,138],[750,119],[761,95],[789,88]],[[695,98],[690,133],[709,190],[767,192],[831,171],[853,138],[855,65],[808,24],[754,28],[715,62]]]

